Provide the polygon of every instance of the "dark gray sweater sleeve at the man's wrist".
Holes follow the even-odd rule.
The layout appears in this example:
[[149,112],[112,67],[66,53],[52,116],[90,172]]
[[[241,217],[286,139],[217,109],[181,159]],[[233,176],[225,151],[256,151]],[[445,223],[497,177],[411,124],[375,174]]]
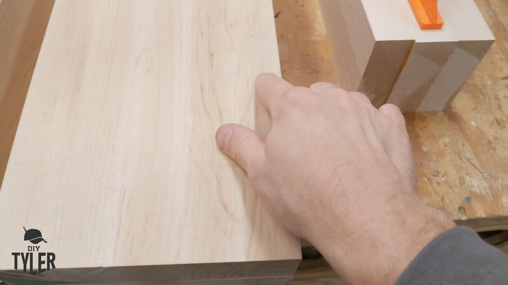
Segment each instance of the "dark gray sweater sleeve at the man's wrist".
[[399,277],[396,285],[507,285],[508,255],[466,227],[431,241]]

